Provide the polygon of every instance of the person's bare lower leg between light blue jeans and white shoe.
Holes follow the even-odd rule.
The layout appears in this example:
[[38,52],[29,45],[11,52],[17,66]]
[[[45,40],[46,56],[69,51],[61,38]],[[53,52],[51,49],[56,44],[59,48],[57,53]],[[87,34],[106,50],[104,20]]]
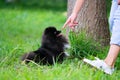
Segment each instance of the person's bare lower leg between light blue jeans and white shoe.
[[115,61],[120,51],[120,46],[111,44],[107,57],[105,58],[105,63],[111,68],[114,67]]

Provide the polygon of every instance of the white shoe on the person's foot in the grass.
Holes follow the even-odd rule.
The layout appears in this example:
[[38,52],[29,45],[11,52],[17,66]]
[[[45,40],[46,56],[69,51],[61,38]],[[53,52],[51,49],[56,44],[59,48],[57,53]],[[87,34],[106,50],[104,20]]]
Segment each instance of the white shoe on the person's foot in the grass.
[[98,58],[96,58],[96,60],[83,59],[83,61],[93,67],[96,67],[99,70],[102,70],[106,74],[112,75],[112,73],[114,72],[114,68],[111,68],[103,60],[100,60]]

